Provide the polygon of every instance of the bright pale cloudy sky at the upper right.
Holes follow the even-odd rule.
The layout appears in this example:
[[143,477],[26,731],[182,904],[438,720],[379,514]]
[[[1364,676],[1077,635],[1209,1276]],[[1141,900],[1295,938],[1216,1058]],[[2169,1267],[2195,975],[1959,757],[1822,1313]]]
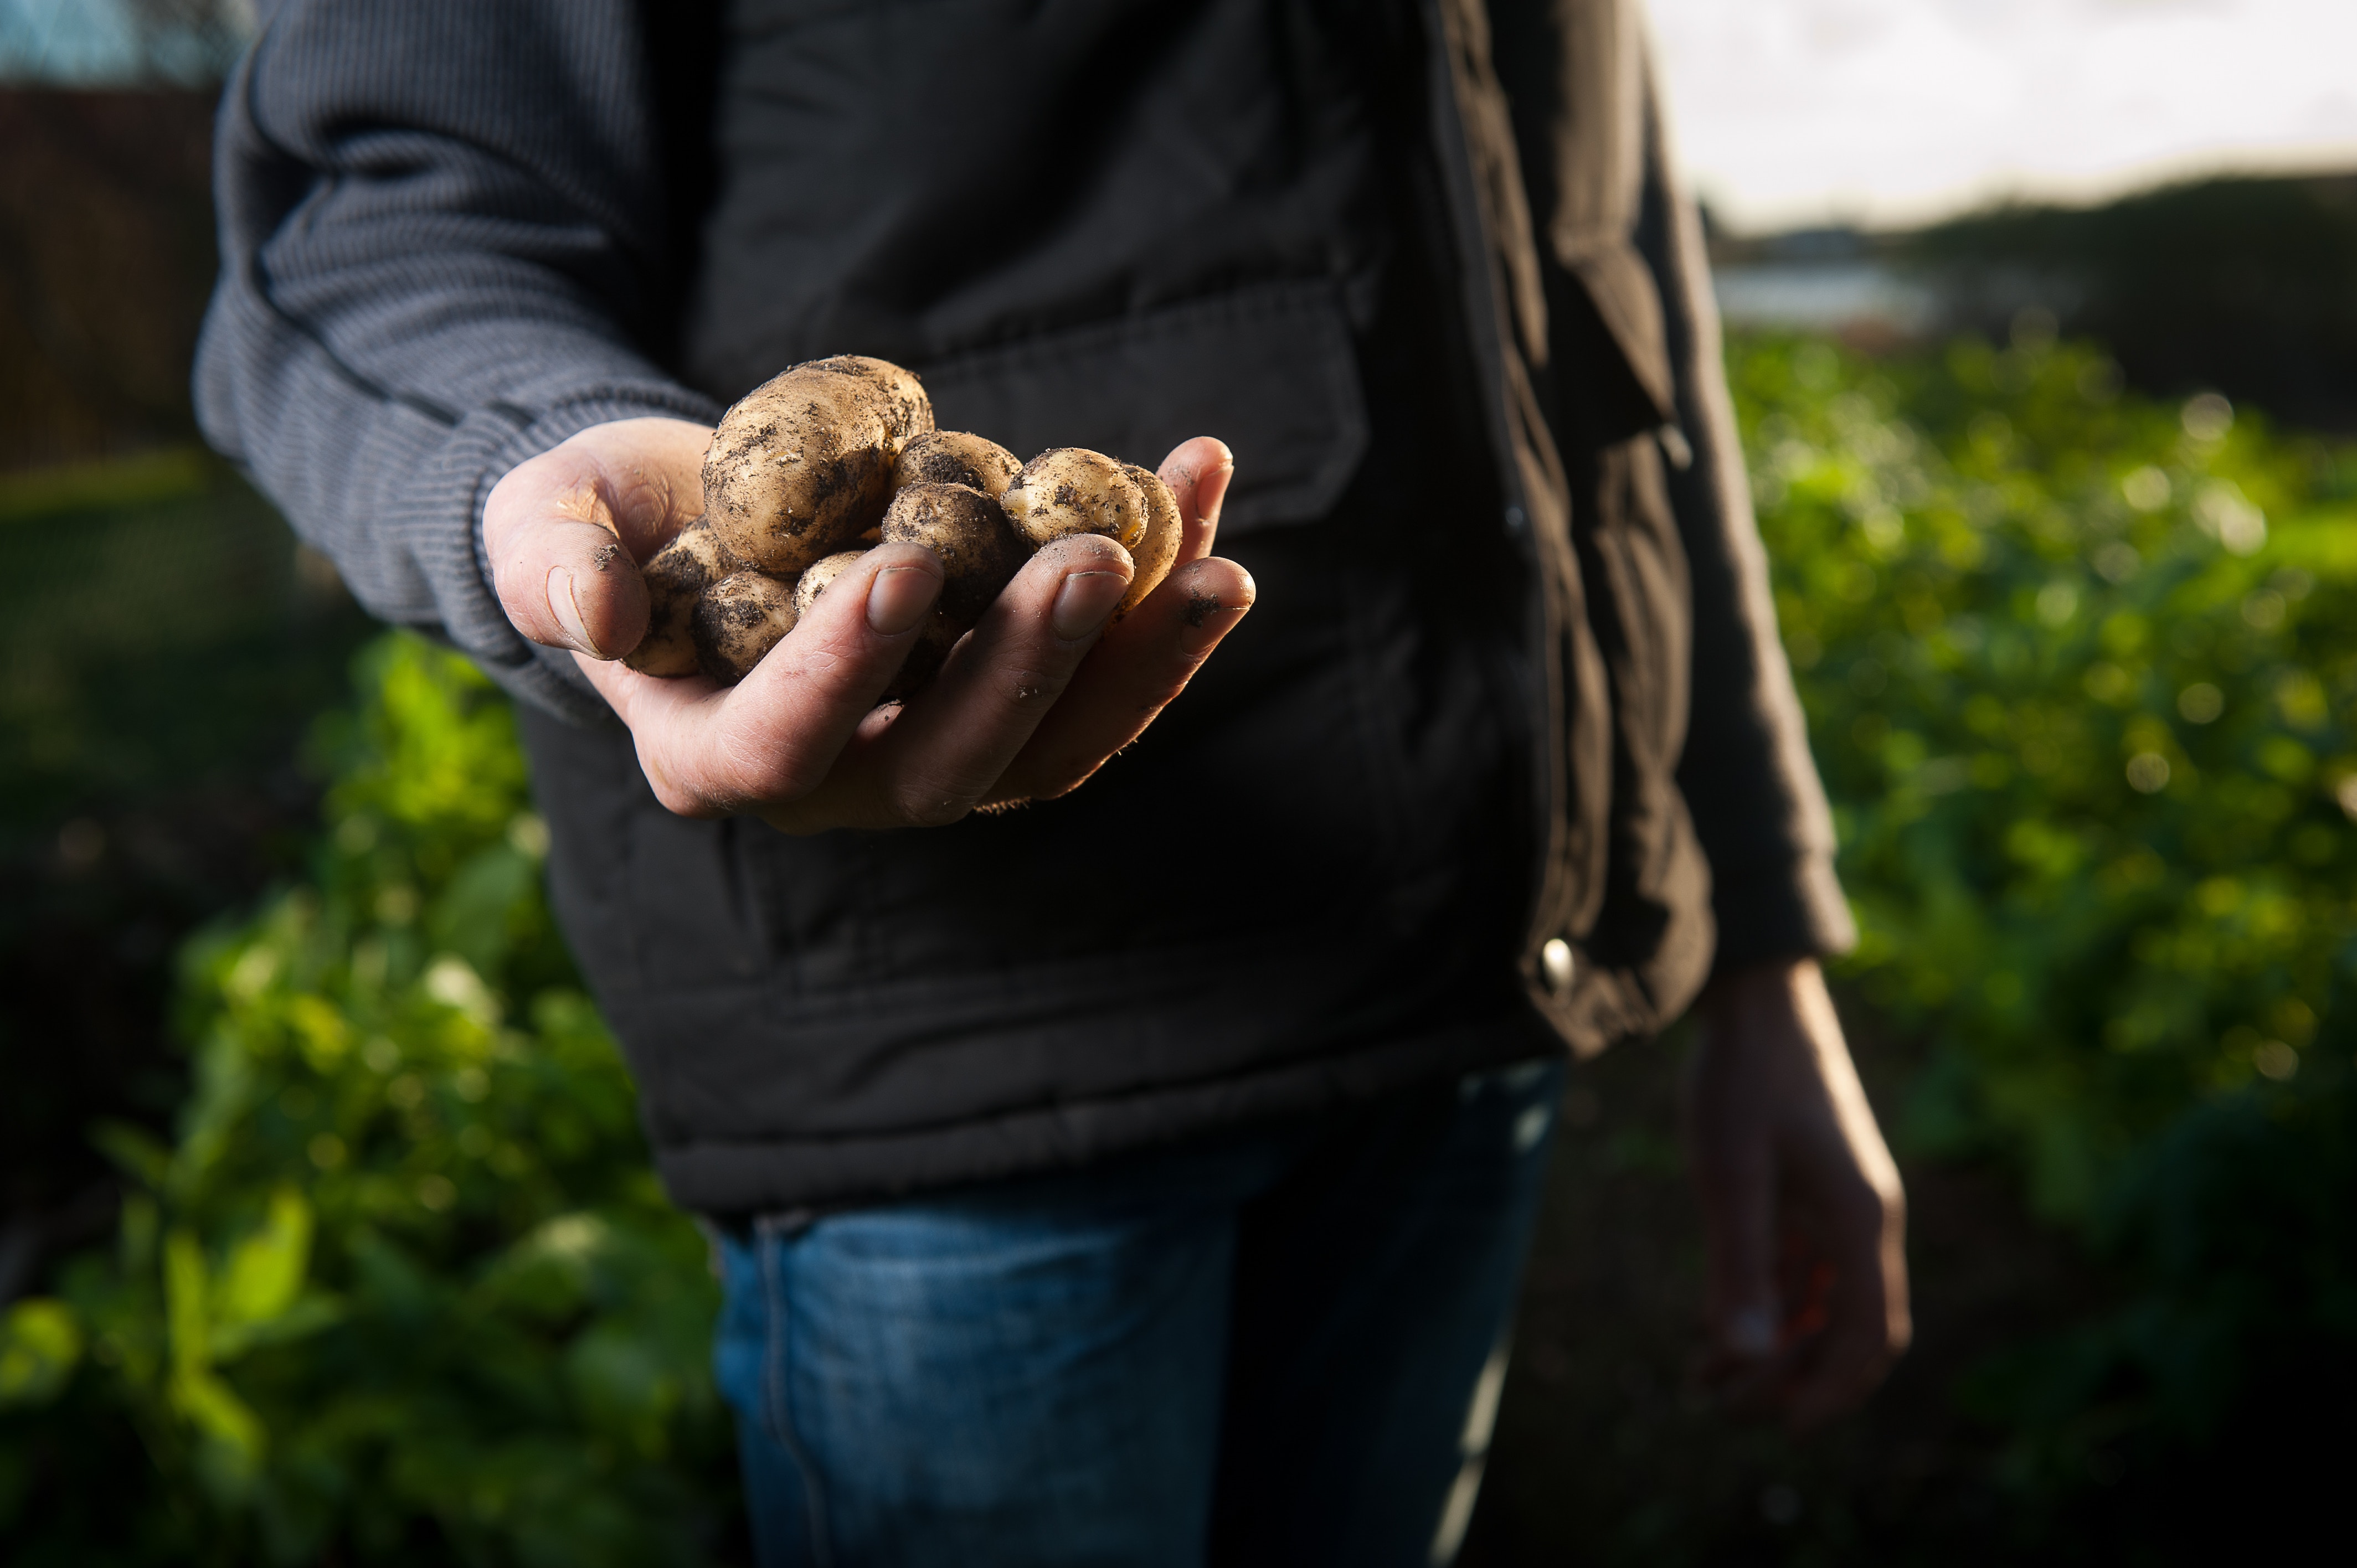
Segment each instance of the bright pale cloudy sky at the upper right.
[[1739,231],[2357,170],[2357,0],[1645,0]]

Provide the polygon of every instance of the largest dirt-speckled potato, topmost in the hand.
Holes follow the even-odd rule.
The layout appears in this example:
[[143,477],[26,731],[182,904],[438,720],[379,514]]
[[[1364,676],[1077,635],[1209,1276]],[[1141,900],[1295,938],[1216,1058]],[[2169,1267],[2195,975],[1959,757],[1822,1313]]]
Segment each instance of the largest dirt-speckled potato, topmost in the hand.
[[924,389],[898,365],[856,356],[794,365],[712,431],[712,528],[747,566],[797,578],[877,521],[893,460],[931,424]]

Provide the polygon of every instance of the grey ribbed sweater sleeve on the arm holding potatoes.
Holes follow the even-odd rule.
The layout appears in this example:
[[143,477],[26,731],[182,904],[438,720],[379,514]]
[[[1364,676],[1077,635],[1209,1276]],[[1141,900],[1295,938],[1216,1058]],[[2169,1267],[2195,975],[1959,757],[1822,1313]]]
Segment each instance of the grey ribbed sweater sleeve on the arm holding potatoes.
[[667,314],[655,92],[629,0],[285,0],[222,99],[205,436],[375,615],[603,714],[490,589],[483,500],[639,415],[712,422]]

